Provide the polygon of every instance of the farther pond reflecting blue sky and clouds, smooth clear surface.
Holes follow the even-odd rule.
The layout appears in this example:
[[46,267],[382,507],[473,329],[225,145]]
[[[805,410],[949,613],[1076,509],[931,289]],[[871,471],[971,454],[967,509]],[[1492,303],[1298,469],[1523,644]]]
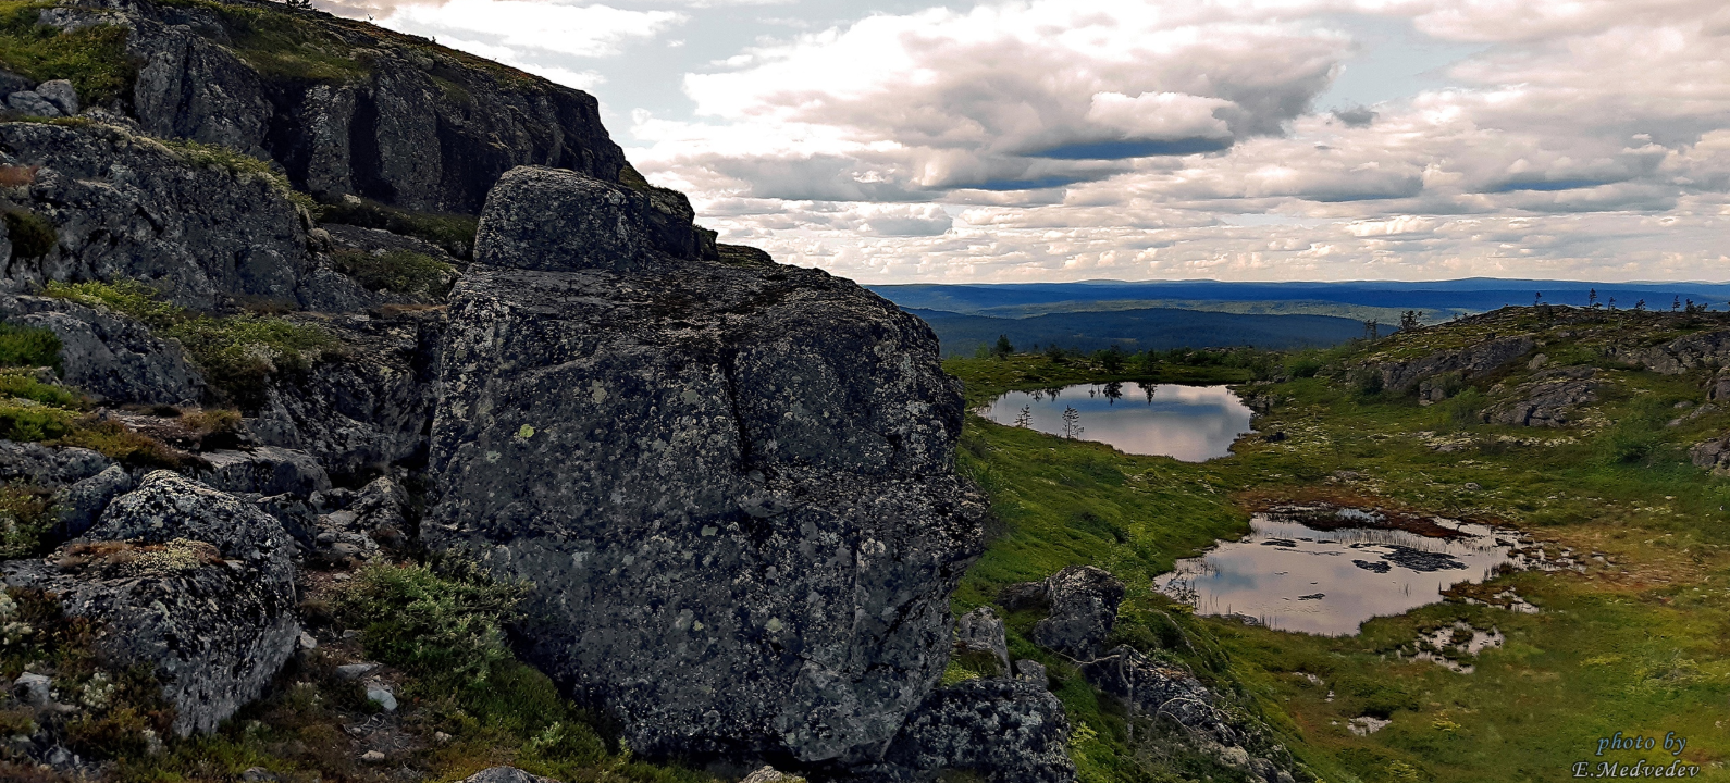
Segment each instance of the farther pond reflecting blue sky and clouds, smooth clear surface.
[[[1066,422],[1071,410],[1071,422]],[[1230,455],[1232,442],[1249,432],[1251,418],[1244,401],[1223,385],[1137,382],[1009,392],[979,413],[996,423],[1024,420],[1040,432],[1073,434],[1128,455],[1164,455],[1182,462]]]

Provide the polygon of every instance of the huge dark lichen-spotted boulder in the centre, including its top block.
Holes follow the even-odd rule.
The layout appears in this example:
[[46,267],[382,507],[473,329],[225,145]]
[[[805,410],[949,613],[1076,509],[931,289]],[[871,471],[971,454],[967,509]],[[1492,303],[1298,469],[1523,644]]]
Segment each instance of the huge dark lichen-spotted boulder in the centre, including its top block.
[[[604,197],[548,223],[559,183]],[[569,171],[491,194],[422,538],[533,582],[522,652],[635,750],[879,759],[943,672],[981,548],[958,384],[922,321],[823,271],[576,247],[630,209]]]

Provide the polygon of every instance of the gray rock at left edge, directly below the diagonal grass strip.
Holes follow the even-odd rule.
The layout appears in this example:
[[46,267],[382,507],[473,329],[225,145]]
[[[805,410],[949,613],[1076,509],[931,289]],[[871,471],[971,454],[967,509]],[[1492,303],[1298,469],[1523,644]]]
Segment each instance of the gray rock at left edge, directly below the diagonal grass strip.
[[109,403],[197,403],[204,379],[178,342],[106,308],[66,299],[0,296],[0,318],[40,327],[61,339],[66,384]]

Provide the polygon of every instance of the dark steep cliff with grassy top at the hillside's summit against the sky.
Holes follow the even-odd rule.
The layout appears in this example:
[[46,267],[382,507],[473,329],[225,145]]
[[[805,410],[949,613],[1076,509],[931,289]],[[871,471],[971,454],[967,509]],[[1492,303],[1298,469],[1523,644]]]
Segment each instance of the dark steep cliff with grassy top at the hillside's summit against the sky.
[[[64,9],[61,24],[131,28],[147,133],[272,159],[324,199],[474,214],[514,166],[607,181],[625,166],[593,97],[424,38],[268,2],[104,5]],[[256,48],[258,28],[306,57]]]

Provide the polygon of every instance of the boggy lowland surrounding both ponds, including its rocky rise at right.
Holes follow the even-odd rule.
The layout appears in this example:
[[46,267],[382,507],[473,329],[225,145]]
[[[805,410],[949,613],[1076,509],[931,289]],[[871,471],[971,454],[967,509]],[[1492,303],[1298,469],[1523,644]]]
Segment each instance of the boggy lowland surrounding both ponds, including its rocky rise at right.
[[[950,360],[974,406],[1003,389],[1189,380],[1237,384],[1258,411],[1258,432],[1206,463],[969,417],[962,467],[995,529],[957,612],[1007,612],[1009,652],[1045,664],[1064,700],[1081,780],[1235,771],[1088,688],[1088,667],[1043,646],[1040,617],[1003,593],[1073,563],[1124,584],[1105,646],[1194,672],[1299,774],[1538,781],[1609,762],[1727,778],[1727,339],[1730,316],[1701,309],[1509,308],[1325,353]],[[1512,527],[1541,567],[1349,636],[1201,617],[1152,589],[1176,558],[1247,534],[1253,513],[1292,508],[1420,534],[1443,532],[1432,517]]]

